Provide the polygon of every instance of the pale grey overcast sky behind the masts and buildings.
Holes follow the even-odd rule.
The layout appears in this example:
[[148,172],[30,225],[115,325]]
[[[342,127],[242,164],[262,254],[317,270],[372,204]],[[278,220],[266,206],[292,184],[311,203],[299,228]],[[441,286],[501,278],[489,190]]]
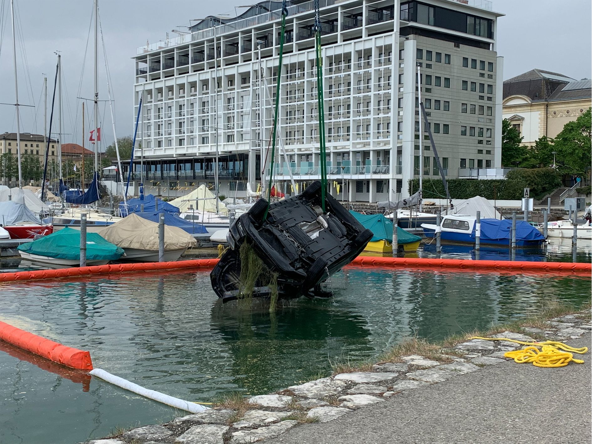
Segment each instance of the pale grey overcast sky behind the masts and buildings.
[[[171,31],[187,27],[190,18],[210,14],[234,15],[235,6],[249,2],[99,0],[118,136],[133,133],[134,61],[131,57],[136,55],[137,47],[146,40],[150,43],[163,40],[167,31],[174,37],[176,34]],[[494,11],[506,14],[500,18],[497,28],[498,53],[505,58],[504,79],[533,68],[560,72],[574,79],[590,78],[591,4],[590,0],[493,0]],[[4,5],[4,11],[0,13],[0,102],[14,103],[10,2],[3,0],[1,5]],[[21,132],[43,133],[43,73],[48,79],[49,110],[57,60],[54,51],[59,50],[64,79],[62,132],[65,135],[62,140],[81,143],[82,105],[76,97],[92,98],[94,91],[92,28],[88,52],[86,49],[92,0],[15,0],[15,5],[19,102],[37,105],[37,108],[21,108]],[[99,99],[106,100],[107,84],[100,42],[98,78]],[[86,103],[85,106],[90,107],[86,114],[88,130],[91,126],[88,111],[92,110],[92,102]],[[104,143],[108,144],[113,140],[113,133],[107,102],[101,102],[99,108],[104,120]],[[49,125],[49,116],[47,120]],[[57,132],[56,128],[57,115],[54,115],[52,133]],[[16,131],[14,106],[0,105],[0,133],[4,131]]]

